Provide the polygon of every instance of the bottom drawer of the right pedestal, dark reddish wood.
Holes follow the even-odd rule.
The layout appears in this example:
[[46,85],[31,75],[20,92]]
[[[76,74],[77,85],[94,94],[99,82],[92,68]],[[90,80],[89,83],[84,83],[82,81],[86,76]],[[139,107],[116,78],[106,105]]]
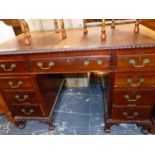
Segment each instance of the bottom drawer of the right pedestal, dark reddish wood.
[[150,108],[113,107],[112,119],[121,121],[138,121],[150,119]]

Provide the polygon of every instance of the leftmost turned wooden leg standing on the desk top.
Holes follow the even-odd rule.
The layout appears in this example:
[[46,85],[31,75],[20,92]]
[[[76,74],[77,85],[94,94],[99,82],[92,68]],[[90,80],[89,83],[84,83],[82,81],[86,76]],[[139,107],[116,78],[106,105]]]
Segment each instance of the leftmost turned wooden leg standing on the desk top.
[[22,32],[24,33],[24,42],[26,45],[30,45],[31,35],[30,35],[29,26],[24,19],[20,19],[19,22],[20,22]]

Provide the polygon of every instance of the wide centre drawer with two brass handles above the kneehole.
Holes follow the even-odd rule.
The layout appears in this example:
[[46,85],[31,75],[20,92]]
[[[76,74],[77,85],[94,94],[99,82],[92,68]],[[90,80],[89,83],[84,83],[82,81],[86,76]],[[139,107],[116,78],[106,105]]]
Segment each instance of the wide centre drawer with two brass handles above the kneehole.
[[59,58],[30,59],[34,72],[53,72],[57,70],[70,71],[72,69],[108,68],[110,55],[107,56],[75,56]]

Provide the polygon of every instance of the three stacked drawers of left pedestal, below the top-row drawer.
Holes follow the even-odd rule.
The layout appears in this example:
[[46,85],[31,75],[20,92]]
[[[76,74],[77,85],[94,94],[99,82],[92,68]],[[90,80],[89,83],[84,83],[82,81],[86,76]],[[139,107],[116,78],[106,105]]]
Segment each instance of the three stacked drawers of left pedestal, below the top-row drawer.
[[0,86],[14,116],[42,116],[30,76],[1,77]]

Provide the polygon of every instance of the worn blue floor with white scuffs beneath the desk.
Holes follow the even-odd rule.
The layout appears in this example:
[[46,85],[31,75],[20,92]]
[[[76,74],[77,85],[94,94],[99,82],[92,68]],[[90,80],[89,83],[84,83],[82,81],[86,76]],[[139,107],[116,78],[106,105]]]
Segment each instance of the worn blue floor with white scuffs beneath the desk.
[[[24,129],[14,127],[4,116],[0,117],[2,135],[103,135],[104,106],[100,84],[88,88],[64,88],[55,108],[55,130],[48,131],[48,125],[28,121]],[[112,126],[111,134],[142,134],[135,124]]]

